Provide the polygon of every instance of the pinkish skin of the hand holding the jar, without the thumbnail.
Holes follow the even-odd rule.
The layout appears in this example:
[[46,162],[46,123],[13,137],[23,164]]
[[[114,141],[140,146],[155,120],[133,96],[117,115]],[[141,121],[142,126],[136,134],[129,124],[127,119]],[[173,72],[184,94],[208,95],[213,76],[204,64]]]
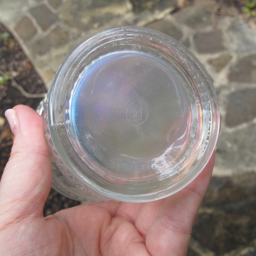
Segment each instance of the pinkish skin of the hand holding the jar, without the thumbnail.
[[92,203],[44,218],[52,169],[43,118],[27,106],[14,110],[18,128],[0,182],[1,255],[186,255],[215,154],[192,183],[168,198]]

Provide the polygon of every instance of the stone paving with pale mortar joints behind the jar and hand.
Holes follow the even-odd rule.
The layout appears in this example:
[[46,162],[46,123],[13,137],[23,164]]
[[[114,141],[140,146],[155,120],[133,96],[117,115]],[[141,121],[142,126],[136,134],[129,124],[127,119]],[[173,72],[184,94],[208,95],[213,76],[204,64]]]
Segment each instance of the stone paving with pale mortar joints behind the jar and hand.
[[[133,12],[131,2],[2,0],[0,21],[13,32],[47,88],[65,55],[103,29],[146,26],[188,47],[213,81],[222,119],[215,177],[198,213],[188,255],[256,255],[256,29],[236,15],[213,16],[214,0],[196,0],[174,13],[176,0],[156,1],[140,12]],[[243,189],[247,192],[241,196]],[[243,235],[232,235],[237,232]]]

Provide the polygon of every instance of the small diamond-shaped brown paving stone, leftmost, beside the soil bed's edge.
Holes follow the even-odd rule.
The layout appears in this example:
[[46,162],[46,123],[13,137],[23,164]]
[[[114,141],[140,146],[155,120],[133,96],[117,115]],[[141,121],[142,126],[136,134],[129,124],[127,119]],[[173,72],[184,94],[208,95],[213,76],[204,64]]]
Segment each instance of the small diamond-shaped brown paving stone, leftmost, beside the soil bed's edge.
[[24,16],[15,26],[14,30],[24,41],[29,41],[37,33],[37,29],[29,17]]

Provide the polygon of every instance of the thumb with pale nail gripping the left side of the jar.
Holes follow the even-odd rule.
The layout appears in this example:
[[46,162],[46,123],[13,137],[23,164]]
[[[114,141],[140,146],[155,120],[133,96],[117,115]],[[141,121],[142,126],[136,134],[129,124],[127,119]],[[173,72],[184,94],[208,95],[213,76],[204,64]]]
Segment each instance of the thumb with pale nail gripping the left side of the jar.
[[43,216],[52,168],[42,116],[18,105],[6,111],[6,118],[15,137],[0,182],[0,216],[9,224],[29,215]]

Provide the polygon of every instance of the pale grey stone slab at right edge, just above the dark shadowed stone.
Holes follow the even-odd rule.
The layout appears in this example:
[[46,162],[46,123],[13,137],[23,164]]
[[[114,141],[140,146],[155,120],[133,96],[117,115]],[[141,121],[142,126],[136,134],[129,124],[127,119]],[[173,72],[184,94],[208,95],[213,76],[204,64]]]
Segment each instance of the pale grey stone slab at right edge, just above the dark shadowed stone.
[[215,166],[256,171],[256,124],[233,132],[225,131],[218,137]]

